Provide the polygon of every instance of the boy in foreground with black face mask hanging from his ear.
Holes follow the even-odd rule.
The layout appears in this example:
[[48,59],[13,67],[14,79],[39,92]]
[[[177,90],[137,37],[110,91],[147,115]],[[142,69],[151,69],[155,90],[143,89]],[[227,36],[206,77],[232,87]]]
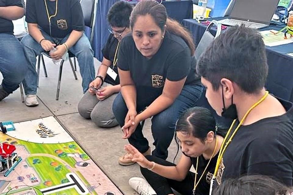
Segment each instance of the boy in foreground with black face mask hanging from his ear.
[[218,115],[234,119],[219,154],[215,184],[242,175],[267,175],[292,186],[293,106],[268,94],[262,36],[236,26],[201,56],[197,71]]

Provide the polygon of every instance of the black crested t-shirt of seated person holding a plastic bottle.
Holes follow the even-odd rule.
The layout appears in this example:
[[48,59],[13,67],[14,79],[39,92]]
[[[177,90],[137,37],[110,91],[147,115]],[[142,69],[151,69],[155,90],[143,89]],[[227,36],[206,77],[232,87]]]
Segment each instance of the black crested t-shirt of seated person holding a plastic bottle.
[[[49,16],[56,12],[56,2],[45,0]],[[44,0],[27,0],[27,23],[36,23],[50,35],[49,19]],[[84,18],[78,0],[58,0],[57,15],[51,18],[51,37],[64,38],[72,30],[84,30]]]

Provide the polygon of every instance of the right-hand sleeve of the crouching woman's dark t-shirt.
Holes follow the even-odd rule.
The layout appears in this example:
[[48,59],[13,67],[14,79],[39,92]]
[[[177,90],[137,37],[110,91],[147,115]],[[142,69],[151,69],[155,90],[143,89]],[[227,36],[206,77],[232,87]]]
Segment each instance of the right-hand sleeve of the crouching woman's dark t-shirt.
[[190,49],[187,47],[183,51],[171,56],[170,59],[167,59],[169,65],[166,78],[170,81],[184,79],[190,72]]

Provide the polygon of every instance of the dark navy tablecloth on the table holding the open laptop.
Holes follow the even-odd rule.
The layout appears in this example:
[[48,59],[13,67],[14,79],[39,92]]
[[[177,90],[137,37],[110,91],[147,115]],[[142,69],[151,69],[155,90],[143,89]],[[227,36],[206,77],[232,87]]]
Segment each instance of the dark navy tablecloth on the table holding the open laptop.
[[[222,19],[222,18],[211,18]],[[190,30],[194,38],[194,43],[198,44],[207,25],[197,23],[195,19],[184,19],[182,24]],[[269,26],[263,30],[280,30],[284,25]],[[215,33],[216,29],[212,28]],[[293,57],[287,53],[293,53],[293,43],[284,44],[275,47],[266,47],[269,74],[266,82],[266,88],[272,93],[285,100],[293,101]]]

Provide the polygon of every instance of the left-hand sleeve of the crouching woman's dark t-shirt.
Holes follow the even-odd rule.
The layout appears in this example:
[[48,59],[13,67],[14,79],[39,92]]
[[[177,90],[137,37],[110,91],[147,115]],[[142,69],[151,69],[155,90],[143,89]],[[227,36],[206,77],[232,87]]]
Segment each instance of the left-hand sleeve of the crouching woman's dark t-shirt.
[[119,51],[118,51],[118,62],[117,66],[119,69],[129,71],[129,54],[127,44],[131,41],[129,37],[124,37],[121,40]]

